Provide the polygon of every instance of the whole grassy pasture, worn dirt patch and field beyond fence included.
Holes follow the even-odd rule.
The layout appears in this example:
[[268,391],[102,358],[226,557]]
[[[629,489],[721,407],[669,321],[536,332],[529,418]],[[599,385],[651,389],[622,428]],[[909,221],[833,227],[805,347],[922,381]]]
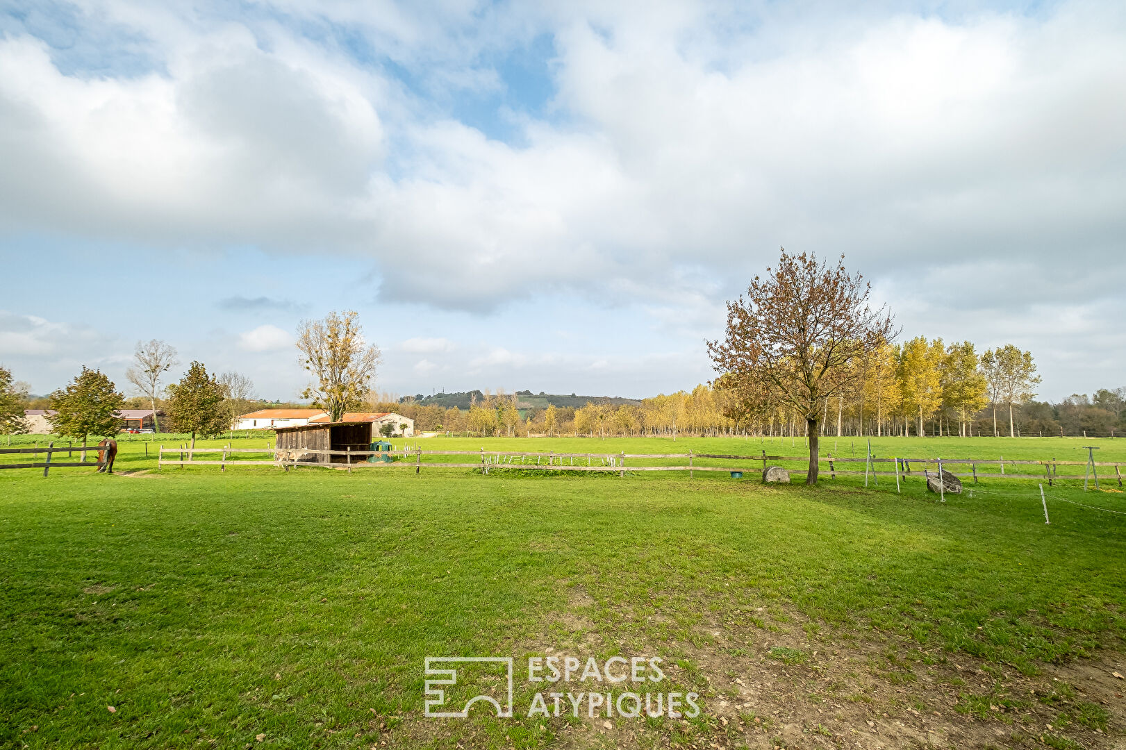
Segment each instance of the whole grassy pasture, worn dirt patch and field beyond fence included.
[[[846,440],[822,450],[847,457]],[[1060,468],[1080,479],[1052,489],[1045,525],[1028,480],[982,480],[940,503],[919,477],[900,493],[885,476],[763,486],[754,462],[743,480],[628,463],[625,477],[426,461],[419,474],[157,472],[143,443],[120,445],[114,476],[0,472],[0,747],[1114,748],[1126,736],[1114,676],[1126,673],[1126,515],[1106,512],[1126,514],[1126,494],[1112,481],[1082,492],[1082,466]],[[873,439],[878,456],[983,461],[1084,461],[1081,445],[1126,461],[1109,439]],[[703,712],[528,717],[520,660],[551,653],[660,655]],[[516,715],[423,717],[428,655],[515,657]]]

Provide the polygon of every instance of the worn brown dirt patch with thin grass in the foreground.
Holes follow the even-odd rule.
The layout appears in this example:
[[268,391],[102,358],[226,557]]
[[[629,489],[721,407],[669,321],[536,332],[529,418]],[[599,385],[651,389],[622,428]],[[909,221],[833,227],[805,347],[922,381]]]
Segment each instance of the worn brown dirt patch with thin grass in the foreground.
[[[1045,664],[1027,677],[1006,666],[950,654],[878,632],[823,633],[796,610],[770,606],[735,623],[705,619],[687,639],[631,639],[593,624],[597,604],[574,588],[569,611],[513,653],[517,700],[511,720],[428,720],[408,715],[393,734],[413,747],[557,748],[1062,748],[1124,747],[1126,660],[1117,650]],[[754,624],[756,622],[761,625]],[[616,643],[616,646],[608,646]],[[655,654],[668,682],[696,691],[694,718],[527,718],[521,654]],[[554,686],[555,689],[561,689]],[[538,687],[545,691],[548,687]],[[565,688],[562,688],[565,689]],[[575,685],[575,691],[589,689]],[[605,685],[595,687],[606,690]],[[622,688],[629,689],[628,687]]]

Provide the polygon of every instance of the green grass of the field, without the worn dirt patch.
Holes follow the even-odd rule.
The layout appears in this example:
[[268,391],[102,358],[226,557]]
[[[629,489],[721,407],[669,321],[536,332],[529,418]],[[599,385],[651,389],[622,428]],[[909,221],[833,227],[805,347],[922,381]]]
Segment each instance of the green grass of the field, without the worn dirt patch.
[[[731,439],[408,443],[761,449]],[[905,445],[938,443],[972,457],[953,449],[957,439]],[[1010,448],[1022,457],[1025,443],[1026,457],[1044,457],[1033,440],[1001,443],[1007,458]],[[1063,459],[1076,443],[1094,444],[1047,447]],[[1103,443],[1099,459],[1123,455]],[[122,446],[119,472],[155,466],[141,444]],[[810,490],[765,488],[753,472],[701,474],[0,472],[0,747],[243,747],[258,735],[369,747],[421,713],[425,657],[519,657],[577,592],[590,627],[626,653],[756,606],[1025,672],[1120,648],[1126,635],[1126,515],[1063,502],[1126,511],[1121,493],[1053,488],[1045,525],[1029,481],[983,481],[973,498],[939,503],[920,479],[897,494],[884,477]],[[556,738],[535,729],[498,722],[490,736],[518,747]]]

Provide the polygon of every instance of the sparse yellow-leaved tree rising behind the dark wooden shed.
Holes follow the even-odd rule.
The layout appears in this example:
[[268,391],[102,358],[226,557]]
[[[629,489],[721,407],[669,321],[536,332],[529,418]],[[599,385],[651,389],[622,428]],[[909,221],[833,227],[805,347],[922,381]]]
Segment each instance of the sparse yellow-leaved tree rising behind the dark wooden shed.
[[302,366],[316,378],[302,393],[338,422],[345,412],[363,403],[379,364],[379,348],[364,340],[358,313],[331,312],[324,320],[302,321],[297,349]]

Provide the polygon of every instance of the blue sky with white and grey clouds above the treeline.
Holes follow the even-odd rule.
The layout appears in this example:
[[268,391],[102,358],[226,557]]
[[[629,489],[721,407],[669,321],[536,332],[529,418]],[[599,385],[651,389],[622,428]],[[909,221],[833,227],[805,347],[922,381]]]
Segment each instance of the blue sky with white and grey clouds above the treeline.
[[292,400],[342,310],[381,391],[668,393],[783,247],[1126,384],[1126,5],[0,0],[35,393],[155,338]]

